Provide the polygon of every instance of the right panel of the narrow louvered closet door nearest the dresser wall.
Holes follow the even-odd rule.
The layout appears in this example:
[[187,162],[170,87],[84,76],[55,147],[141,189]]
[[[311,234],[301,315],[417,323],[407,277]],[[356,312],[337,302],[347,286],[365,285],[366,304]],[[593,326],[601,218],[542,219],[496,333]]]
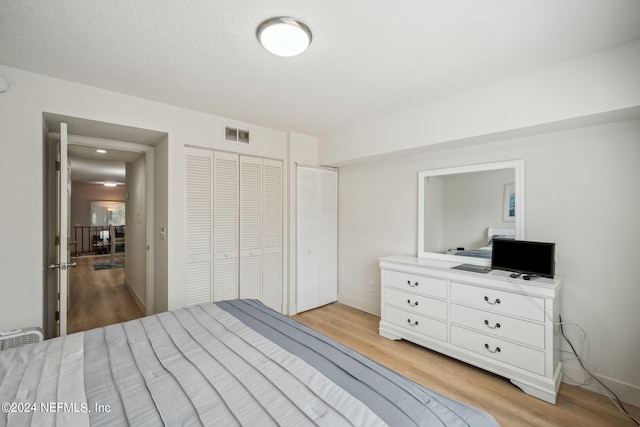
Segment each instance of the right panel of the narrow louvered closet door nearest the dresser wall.
[[338,173],[318,170],[319,304],[338,299]]

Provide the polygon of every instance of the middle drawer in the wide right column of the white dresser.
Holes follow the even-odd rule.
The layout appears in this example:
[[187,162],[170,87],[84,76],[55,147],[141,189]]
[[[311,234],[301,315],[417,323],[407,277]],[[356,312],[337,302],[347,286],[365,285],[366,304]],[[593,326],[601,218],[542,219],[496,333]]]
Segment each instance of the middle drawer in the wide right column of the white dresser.
[[544,325],[451,304],[451,322],[496,337],[544,349]]

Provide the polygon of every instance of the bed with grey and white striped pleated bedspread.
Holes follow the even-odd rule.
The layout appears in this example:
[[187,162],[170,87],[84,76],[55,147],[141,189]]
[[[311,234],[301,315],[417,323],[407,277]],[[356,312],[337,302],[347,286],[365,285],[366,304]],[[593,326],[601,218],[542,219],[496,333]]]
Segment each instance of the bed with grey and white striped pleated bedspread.
[[256,300],[0,352],[0,426],[497,426]]

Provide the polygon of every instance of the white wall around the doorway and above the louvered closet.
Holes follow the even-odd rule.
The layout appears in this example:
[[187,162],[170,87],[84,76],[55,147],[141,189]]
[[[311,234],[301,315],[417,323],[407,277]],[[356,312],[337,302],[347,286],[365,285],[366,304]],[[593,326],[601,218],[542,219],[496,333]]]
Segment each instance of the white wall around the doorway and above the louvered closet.
[[[0,65],[11,89],[0,94],[0,179],[19,182],[0,190],[0,330],[42,325],[43,153],[42,114],[50,112],[142,129],[167,132],[156,153],[156,194],[167,207],[156,212],[155,236],[167,229],[156,248],[156,310],[182,307],[184,282],[184,145],[287,159],[287,133],[79,85]],[[224,142],[224,124],[251,132],[249,146]],[[159,150],[158,150],[159,151]],[[164,163],[164,166],[163,166]],[[163,187],[164,186],[164,187]],[[158,203],[158,200],[156,200]],[[9,242],[9,243],[6,243]],[[36,250],[37,249],[37,250]]]

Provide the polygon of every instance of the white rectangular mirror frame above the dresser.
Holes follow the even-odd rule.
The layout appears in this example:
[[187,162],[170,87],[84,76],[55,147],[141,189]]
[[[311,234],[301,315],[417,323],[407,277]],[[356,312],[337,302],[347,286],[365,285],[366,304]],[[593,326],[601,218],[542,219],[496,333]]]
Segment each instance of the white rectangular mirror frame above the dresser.
[[441,261],[453,261],[459,262],[461,264],[474,264],[474,265],[483,265],[489,266],[491,265],[491,260],[483,259],[483,258],[474,258],[467,257],[461,255],[450,255],[450,254],[442,254],[436,252],[425,252],[424,251],[424,182],[425,179],[431,176],[444,176],[444,175],[454,175],[454,174],[462,174],[469,172],[483,172],[483,171],[492,171],[498,169],[513,169],[514,172],[514,187],[516,194],[516,218],[515,218],[515,232],[516,239],[524,240],[524,229],[525,229],[525,221],[524,221],[524,160],[507,160],[502,162],[493,162],[493,163],[481,163],[474,165],[466,165],[466,166],[458,166],[458,167],[450,167],[450,168],[442,168],[442,169],[431,169],[418,172],[418,257],[419,258],[430,258]]

